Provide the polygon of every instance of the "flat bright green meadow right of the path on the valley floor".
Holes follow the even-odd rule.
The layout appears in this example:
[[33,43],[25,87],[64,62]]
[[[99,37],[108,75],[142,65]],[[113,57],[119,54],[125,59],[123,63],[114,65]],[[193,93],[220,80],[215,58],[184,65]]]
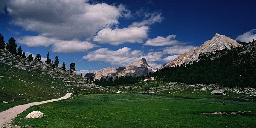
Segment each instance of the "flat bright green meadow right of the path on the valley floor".
[[[26,119],[32,111],[41,111],[44,117]],[[227,114],[201,114],[210,112]],[[75,94],[71,99],[29,108],[14,119],[14,125],[33,128],[253,128],[256,103],[130,93]]]

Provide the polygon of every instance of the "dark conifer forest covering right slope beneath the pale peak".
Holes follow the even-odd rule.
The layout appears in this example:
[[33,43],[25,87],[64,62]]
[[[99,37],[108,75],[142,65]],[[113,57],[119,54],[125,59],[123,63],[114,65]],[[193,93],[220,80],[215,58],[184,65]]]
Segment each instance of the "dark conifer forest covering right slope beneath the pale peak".
[[241,47],[238,47],[225,51],[226,54],[212,61],[206,58],[186,66],[166,67],[153,74],[163,81],[219,84],[220,87],[256,87],[256,58],[248,58],[249,53],[238,55],[240,50]]

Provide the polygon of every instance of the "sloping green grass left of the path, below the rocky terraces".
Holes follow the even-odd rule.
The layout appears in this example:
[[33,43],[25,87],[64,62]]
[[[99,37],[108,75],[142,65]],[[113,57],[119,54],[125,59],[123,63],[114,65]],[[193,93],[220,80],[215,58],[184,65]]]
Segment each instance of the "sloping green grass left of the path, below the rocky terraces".
[[60,81],[42,73],[27,72],[3,63],[0,67],[0,111],[29,102],[59,98],[69,90]]

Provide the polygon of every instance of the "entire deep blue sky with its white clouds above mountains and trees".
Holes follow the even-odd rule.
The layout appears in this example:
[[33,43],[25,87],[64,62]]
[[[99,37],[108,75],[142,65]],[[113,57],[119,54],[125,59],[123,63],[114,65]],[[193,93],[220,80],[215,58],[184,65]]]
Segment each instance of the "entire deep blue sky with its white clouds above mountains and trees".
[[75,62],[77,74],[143,57],[157,68],[216,33],[256,39],[256,0],[120,1],[1,0],[0,33],[23,52]]

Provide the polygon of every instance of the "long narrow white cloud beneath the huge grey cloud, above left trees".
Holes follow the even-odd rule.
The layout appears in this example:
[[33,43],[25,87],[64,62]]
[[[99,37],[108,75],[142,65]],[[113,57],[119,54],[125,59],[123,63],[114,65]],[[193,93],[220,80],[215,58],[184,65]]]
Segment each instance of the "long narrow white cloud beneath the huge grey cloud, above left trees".
[[48,47],[52,45],[52,52],[56,53],[74,53],[74,52],[85,52],[91,48],[97,47],[96,44],[92,44],[87,41],[71,40],[63,41],[52,38],[46,38],[44,36],[25,36],[17,39],[20,44],[25,44],[28,47]]

